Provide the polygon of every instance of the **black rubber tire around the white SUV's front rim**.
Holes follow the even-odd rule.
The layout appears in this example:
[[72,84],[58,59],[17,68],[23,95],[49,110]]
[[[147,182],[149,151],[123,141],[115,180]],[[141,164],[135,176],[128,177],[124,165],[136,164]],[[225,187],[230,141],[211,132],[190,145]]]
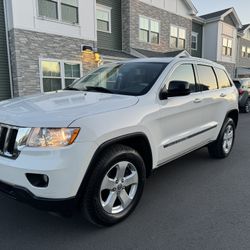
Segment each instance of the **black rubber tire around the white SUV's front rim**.
[[[85,188],[85,193],[80,204],[81,212],[85,219],[95,225],[112,226],[125,219],[138,204],[146,179],[145,164],[137,151],[123,145],[114,145],[104,150],[98,158]],[[112,212],[108,213],[105,211],[102,206],[100,190],[105,176],[108,175],[112,167],[114,168],[116,164],[123,161],[131,163],[136,168],[138,174],[137,189],[128,207],[119,213],[112,214]],[[112,192],[112,190],[109,192]]]

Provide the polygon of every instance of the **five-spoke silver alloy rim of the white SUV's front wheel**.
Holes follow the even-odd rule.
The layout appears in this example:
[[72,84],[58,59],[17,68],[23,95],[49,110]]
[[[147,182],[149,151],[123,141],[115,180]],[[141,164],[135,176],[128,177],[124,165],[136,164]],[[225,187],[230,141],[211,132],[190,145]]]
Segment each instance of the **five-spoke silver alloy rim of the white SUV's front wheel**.
[[110,214],[123,212],[132,202],[138,187],[136,167],[121,161],[110,168],[100,188],[100,202]]

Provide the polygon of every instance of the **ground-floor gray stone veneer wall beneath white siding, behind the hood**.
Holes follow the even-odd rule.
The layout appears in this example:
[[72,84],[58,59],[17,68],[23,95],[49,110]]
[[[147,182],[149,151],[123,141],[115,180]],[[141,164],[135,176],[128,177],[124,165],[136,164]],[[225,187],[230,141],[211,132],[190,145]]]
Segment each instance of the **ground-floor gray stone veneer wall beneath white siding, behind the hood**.
[[[39,58],[82,61],[81,45],[96,47],[82,39],[12,29],[9,32],[14,96],[41,92]],[[83,71],[92,65],[83,63]]]

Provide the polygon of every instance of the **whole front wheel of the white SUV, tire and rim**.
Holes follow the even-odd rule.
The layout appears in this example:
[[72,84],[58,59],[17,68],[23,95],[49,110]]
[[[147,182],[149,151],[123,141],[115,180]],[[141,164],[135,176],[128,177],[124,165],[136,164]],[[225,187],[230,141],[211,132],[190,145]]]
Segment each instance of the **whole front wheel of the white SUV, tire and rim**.
[[134,149],[115,145],[105,150],[83,195],[81,210],[85,218],[100,226],[122,221],[139,202],[145,179],[144,162]]

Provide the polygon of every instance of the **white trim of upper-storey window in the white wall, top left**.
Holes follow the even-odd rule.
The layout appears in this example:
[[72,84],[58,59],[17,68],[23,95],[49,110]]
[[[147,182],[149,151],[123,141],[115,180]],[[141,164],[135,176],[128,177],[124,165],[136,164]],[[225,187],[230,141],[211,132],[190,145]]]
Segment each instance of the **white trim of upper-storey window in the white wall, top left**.
[[41,20],[46,20],[46,21],[51,21],[51,22],[57,22],[57,23],[62,23],[62,24],[68,24],[68,25],[73,25],[73,26],[79,26],[80,25],[80,11],[79,11],[79,0],[77,0],[77,19],[78,22],[77,23],[71,23],[71,22],[67,22],[65,20],[62,20],[62,0],[50,0],[52,2],[56,2],[57,3],[57,15],[58,18],[51,18],[51,17],[47,17],[47,16],[41,16],[39,14],[39,0],[36,1],[36,13],[37,13],[37,18],[41,19]]

